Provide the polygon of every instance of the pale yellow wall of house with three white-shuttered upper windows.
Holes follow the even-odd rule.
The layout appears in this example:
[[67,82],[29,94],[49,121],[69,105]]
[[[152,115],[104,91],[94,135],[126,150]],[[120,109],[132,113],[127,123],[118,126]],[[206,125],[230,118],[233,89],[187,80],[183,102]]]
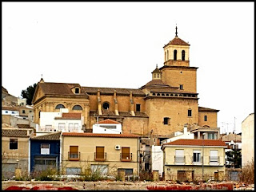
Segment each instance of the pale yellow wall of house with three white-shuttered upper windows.
[[[183,149],[185,155],[185,165],[175,165],[174,156],[176,149]],[[202,165],[192,166],[193,163],[193,151],[199,150],[202,155],[202,147],[165,147],[164,155],[164,172],[166,180],[176,180],[178,170],[194,170],[194,174],[202,177]],[[209,156],[210,150],[218,150],[219,165],[210,166]],[[204,176],[214,177],[214,172],[225,171],[225,150],[222,147],[204,147]],[[196,176],[196,175],[195,175]]]

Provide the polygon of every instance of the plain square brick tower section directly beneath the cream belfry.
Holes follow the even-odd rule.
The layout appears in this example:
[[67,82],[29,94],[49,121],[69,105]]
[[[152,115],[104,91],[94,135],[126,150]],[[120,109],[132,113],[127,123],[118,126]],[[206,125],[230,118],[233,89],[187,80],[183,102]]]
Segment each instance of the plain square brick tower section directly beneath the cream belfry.
[[162,69],[162,81],[173,87],[183,84],[185,92],[197,92],[196,69],[164,68]]

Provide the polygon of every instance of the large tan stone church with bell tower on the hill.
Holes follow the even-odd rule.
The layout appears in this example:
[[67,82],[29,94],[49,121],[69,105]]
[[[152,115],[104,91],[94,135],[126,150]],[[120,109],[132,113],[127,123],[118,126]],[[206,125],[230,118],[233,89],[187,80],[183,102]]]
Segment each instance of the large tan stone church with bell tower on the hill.
[[[219,110],[198,106],[197,69],[190,66],[190,44],[178,37],[164,45],[164,63],[152,72],[152,80],[141,88],[100,88],[82,84],[50,83],[41,79],[34,93],[34,123],[40,112],[81,113],[83,130],[94,123],[115,120],[122,133],[169,138],[183,127],[217,128]],[[107,84],[106,84],[107,86]]]

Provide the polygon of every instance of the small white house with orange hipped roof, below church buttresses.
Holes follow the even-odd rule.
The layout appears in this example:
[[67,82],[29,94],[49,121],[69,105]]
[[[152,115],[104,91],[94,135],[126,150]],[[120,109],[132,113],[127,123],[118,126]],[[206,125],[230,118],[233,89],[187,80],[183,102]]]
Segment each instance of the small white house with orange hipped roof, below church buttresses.
[[94,123],[93,133],[121,134],[122,124],[114,120],[102,120]]

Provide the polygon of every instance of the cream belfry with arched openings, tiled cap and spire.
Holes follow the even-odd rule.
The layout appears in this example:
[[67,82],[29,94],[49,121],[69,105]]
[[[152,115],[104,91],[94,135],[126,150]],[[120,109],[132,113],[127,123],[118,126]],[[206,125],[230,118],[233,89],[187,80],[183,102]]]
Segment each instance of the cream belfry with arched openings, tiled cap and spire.
[[190,66],[190,44],[178,37],[176,26],[175,37],[167,45],[164,45],[164,65]]

